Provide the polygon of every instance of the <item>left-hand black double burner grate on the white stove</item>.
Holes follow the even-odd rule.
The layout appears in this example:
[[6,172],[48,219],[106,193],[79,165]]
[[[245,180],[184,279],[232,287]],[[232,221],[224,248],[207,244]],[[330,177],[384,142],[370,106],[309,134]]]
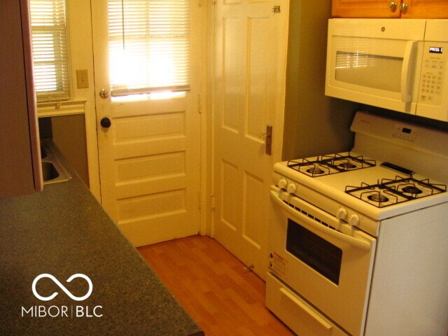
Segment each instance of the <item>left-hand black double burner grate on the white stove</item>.
[[288,161],[288,167],[311,177],[330,175],[351,170],[374,167],[376,162],[363,156],[354,156],[351,153],[336,153],[322,155],[316,158],[305,158]]

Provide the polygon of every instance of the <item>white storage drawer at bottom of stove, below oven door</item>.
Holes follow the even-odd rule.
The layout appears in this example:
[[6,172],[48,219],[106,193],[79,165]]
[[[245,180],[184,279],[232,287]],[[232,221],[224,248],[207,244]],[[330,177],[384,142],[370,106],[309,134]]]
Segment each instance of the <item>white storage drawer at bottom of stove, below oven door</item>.
[[266,307],[299,336],[349,336],[270,273]]

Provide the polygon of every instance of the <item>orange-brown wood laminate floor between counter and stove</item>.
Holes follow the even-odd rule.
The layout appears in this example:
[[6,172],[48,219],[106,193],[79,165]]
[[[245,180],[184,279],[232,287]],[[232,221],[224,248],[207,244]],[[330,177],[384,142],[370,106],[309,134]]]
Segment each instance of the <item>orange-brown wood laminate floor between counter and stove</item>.
[[265,282],[210,237],[137,248],[206,336],[293,336],[265,307]]

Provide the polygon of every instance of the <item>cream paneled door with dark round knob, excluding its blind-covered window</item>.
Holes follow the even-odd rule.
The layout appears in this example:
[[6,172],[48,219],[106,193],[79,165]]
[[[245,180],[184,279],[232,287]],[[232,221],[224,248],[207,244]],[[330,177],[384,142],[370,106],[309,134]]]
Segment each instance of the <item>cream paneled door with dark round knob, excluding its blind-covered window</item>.
[[[108,0],[94,0],[91,4],[102,205],[134,246],[197,235],[198,51],[191,49],[191,90],[183,96],[113,101]],[[190,7],[190,45],[198,46],[198,9],[193,4]],[[108,97],[101,97],[101,90],[108,92]],[[110,120],[110,127],[101,125],[103,118]]]

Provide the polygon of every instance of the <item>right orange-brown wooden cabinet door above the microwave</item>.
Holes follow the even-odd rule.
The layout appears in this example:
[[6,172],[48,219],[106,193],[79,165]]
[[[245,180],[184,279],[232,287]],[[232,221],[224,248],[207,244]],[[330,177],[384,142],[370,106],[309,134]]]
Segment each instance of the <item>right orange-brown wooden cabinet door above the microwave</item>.
[[402,18],[448,18],[447,0],[402,0],[402,3],[407,5],[407,9],[402,11]]

